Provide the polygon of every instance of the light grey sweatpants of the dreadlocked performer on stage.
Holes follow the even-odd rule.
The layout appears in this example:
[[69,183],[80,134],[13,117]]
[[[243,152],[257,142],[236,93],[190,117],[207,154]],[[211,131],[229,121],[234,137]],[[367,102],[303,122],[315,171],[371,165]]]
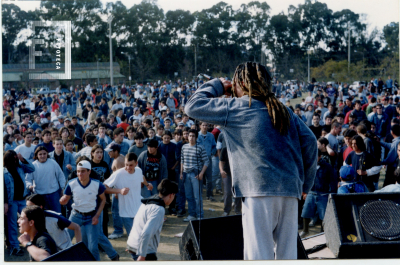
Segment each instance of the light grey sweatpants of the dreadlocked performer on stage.
[[292,197],[245,198],[245,260],[297,259],[297,204]]

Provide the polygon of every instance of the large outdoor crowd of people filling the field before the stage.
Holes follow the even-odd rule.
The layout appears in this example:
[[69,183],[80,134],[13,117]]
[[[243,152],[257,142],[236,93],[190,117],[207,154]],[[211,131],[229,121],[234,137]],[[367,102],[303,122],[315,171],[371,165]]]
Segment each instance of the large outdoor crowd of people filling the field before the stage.
[[[393,81],[386,86],[380,81],[353,90],[348,84],[313,80],[309,95],[295,107],[290,103],[293,93],[303,89],[296,85],[293,93],[282,93],[280,83],[274,85],[276,98],[310,129],[318,146],[315,181],[311,191],[302,194],[296,220],[302,237],[318,218],[324,219],[329,194],[400,191],[400,92]],[[171,82],[117,89],[88,85],[47,97],[18,95],[15,90],[7,95],[3,161],[10,255],[23,255],[22,244],[32,260],[42,260],[71,246],[75,237],[96,260],[101,248],[116,261],[119,254],[110,239],[122,237],[125,228],[132,258],[156,260],[164,215],[184,222],[204,218],[203,189],[209,201],[223,194],[223,216],[241,214],[246,190],[232,190],[231,172],[236,167],[232,163],[241,162],[229,155],[238,143],[225,138],[253,146],[256,163],[262,158],[256,139],[268,137],[257,134],[263,121],[248,127],[247,135],[226,136],[229,132],[220,122],[207,122],[207,112],[204,119],[192,119],[185,105],[196,87],[178,83],[173,88]],[[18,104],[15,98],[23,100]],[[26,108],[31,102],[35,106]],[[245,118],[232,116],[229,122],[240,127]],[[254,137],[248,139],[250,135]],[[286,147],[291,157],[295,155],[290,150],[300,148]],[[386,177],[379,190],[382,167]],[[251,168],[259,170],[243,167],[240,174]],[[249,186],[247,192],[261,187]],[[110,235],[109,207],[114,229]]]

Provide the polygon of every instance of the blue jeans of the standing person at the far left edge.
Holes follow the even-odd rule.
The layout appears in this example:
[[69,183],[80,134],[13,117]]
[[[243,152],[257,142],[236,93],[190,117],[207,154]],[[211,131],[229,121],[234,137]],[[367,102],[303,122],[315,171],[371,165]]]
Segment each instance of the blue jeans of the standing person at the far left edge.
[[26,201],[13,201],[8,204],[7,212],[7,225],[8,225],[8,241],[10,241],[11,247],[19,248],[18,241],[18,213],[21,213],[22,209],[26,207]]

